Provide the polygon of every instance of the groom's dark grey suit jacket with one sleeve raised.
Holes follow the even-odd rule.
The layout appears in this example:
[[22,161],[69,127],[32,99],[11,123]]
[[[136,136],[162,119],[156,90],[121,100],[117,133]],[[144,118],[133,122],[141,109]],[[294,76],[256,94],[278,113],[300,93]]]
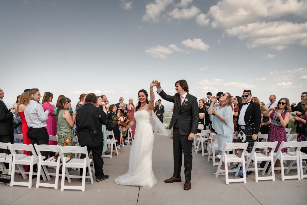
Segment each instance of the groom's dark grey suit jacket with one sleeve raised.
[[[158,93],[164,100],[174,103],[174,110],[171,122],[169,123],[169,129],[171,129],[175,123],[178,123],[179,133],[181,135],[189,135],[191,132],[197,133],[197,127],[199,122],[199,108],[197,98],[187,93],[186,98],[188,101],[180,105],[180,95],[175,94],[173,96],[167,95],[163,90]],[[260,126],[260,125],[259,125]]]

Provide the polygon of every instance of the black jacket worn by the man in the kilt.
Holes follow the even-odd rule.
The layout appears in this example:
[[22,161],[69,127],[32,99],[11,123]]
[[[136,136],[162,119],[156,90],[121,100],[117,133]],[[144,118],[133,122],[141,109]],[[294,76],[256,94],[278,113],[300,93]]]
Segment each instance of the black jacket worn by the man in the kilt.
[[[241,104],[239,107],[238,118],[235,124],[235,131],[238,131],[238,132],[239,132],[239,127],[240,127],[239,116],[240,116],[240,111],[241,111],[242,106],[243,104]],[[244,122],[246,125],[251,125],[254,123],[253,124],[253,134],[258,135],[260,124],[261,124],[261,111],[260,111],[260,106],[258,103],[251,101],[248,104],[248,107],[244,115]]]

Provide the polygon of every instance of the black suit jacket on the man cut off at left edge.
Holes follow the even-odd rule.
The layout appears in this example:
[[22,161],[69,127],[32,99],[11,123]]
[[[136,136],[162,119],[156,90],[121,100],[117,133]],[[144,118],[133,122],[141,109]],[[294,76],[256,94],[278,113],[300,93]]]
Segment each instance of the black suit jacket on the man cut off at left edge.
[[13,113],[6,108],[2,101],[0,101],[0,135],[9,135],[13,133]]

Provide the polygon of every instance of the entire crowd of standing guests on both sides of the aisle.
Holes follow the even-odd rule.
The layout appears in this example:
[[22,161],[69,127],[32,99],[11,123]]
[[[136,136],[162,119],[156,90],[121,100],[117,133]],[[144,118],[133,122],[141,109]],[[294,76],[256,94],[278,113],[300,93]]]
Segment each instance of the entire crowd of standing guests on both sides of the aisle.
[[[120,97],[119,103],[109,104],[105,95],[96,96],[94,93],[81,94],[75,111],[72,110],[71,100],[64,95],[60,95],[54,105],[52,93],[45,92],[40,102],[42,96],[39,89],[24,90],[10,109],[3,102],[3,97],[4,92],[0,89],[0,142],[13,143],[13,133],[22,133],[23,139],[16,139],[15,143],[72,146],[73,136],[78,136],[79,144],[87,146],[88,153],[92,151],[97,181],[108,177],[103,173],[101,158],[102,153],[109,154],[106,152],[107,137],[111,139],[112,136],[107,136],[106,130],[113,131],[117,140],[113,149],[120,144],[126,144],[126,136],[122,136],[120,128],[112,123],[112,117],[128,115],[132,120],[135,112],[132,99],[125,104]],[[285,128],[292,115],[298,134],[297,141],[305,140],[307,92],[301,93],[301,101],[298,104],[290,104],[285,97],[276,100],[275,95],[270,95],[269,101],[266,105],[260,102],[257,97],[252,96],[251,90],[244,90],[242,96],[231,96],[227,92],[218,92],[213,96],[208,92],[207,98],[198,101],[199,126],[196,137],[199,138],[201,130],[210,124],[210,137],[217,135],[214,143],[218,144],[220,152],[225,142],[248,142],[247,152],[251,152],[254,143],[261,141],[257,135],[264,133],[268,134],[268,141],[278,141],[276,152],[281,142],[287,141]],[[153,112],[163,122],[164,106],[161,100],[156,102]],[[134,137],[135,125],[131,130]],[[237,139],[233,138],[233,134]],[[58,141],[49,141],[49,135],[57,136]],[[306,152],[304,149],[302,151]],[[282,149],[282,152],[286,152],[286,149]],[[241,153],[241,150],[235,150],[235,155]],[[48,152],[43,152],[46,158],[48,155]],[[65,156],[72,157],[71,153],[65,153]],[[277,161],[275,166],[280,167],[280,161]],[[25,166],[25,171],[28,170],[29,166]],[[277,173],[279,171],[276,170]]]

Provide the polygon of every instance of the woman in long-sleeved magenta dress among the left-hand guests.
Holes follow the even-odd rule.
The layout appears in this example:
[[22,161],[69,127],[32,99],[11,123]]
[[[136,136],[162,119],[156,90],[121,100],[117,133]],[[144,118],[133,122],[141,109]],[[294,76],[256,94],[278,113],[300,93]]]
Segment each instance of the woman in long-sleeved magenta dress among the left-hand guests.
[[[50,110],[50,112],[48,114],[48,119],[46,120],[46,124],[47,124],[46,129],[47,129],[48,135],[56,136],[56,119],[53,115],[54,105],[50,104],[50,102],[52,102],[52,99],[53,99],[52,93],[45,92],[42,103],[43,103],[44,111],[46,109]],[[50,145],[57,145],[57,142],[49,140],[49,144]]]

